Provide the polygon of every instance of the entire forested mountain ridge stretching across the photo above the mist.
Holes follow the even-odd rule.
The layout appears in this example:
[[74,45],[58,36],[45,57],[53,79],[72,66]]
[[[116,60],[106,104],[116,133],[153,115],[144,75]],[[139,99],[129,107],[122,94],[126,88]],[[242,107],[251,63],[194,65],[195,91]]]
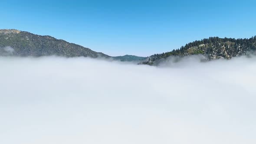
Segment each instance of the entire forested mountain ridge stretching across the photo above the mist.
[[84,56],[120,61],[138,61],[139,64],[157,65],[170,56],[183,58],[184,56],[202,55],[203,60],[212,60],[231,59],[248,53],[256,53],[256,36],[249,39],[209,37],[208,39],[187,43],[185,46],[181,46],[180,49],[173,49],[170,52],[140,57],[133,55],[108,56],[63,39],[56,39],[53,36],[41,36],[16,29],[0,29],[0,56],[10,54],[12,56]]

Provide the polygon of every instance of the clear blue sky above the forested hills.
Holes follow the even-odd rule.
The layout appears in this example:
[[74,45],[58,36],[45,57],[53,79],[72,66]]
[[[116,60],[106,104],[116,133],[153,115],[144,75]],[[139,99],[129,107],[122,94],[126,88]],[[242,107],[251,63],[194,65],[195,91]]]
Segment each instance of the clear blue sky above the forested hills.
[[0,6],[0,29],[50,35],[110,56],[256,35],[255,0],[1,0]]

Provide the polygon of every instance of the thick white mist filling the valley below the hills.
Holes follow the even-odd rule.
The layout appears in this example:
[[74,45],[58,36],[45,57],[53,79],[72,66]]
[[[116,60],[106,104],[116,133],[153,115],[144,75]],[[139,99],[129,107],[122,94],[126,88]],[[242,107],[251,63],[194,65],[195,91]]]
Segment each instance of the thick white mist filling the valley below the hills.
[[0,57],[1,144],[255,144],[256,58]]

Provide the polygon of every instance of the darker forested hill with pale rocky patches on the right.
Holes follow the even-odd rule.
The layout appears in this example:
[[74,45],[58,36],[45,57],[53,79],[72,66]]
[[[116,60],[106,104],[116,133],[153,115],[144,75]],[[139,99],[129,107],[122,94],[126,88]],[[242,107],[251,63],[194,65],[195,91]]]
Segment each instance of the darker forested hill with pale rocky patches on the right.
[[160,59],[169,56],[190,56],[203,55],[205,59],[231,59],[235,56],[246,55],[256,52],[256,36],[249,39],[231,39],[210,37],[194,41],[182,46],[180,49],[172,50],[161,54],[154,54],[148,57],[143,64],[154,65]]

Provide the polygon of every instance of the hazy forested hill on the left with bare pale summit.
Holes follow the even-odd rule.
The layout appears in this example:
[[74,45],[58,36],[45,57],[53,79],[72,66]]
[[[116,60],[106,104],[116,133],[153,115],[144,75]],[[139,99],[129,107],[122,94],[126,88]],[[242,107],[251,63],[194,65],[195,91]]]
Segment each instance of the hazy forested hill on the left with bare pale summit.
[[[13,48],[11,52],[13,56],[110,57],[52,36],[40,36],[16,29],[0,29],[0,48],[8,46]],[[3,51],[3,49],[1,50]]]

